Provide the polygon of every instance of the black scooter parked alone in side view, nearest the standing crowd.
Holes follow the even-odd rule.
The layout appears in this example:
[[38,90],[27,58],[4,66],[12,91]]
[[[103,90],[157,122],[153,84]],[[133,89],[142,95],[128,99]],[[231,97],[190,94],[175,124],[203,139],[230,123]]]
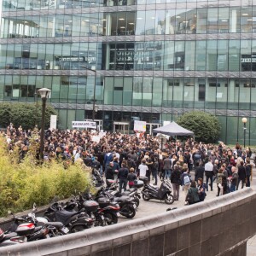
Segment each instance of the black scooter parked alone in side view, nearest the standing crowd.
[[172,185],[168,181],[163,181],[160,184],[160,188],[148,183],[148,177],[140,177],[143,180],[143,200],[149,201],[150,199],[156,199],[165,201],[167,205],[172,205],[174,197],[172,195]]

